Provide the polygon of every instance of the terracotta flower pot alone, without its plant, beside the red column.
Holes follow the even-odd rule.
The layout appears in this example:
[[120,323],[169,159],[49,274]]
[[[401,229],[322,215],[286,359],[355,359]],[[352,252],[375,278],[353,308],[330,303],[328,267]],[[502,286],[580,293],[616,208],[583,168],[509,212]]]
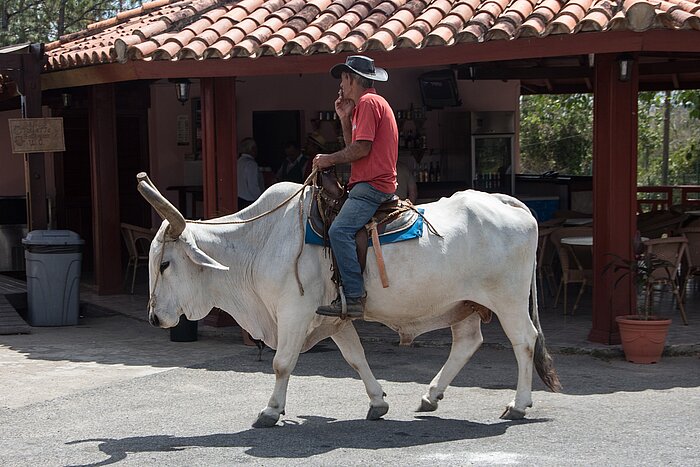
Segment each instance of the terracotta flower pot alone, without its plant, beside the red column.
[[636,315],[615,318],[620,327],[620,340],[625,358],[633,363],[656,363],[661,359],[666,343],[670,319],[651,317],[639,319]]

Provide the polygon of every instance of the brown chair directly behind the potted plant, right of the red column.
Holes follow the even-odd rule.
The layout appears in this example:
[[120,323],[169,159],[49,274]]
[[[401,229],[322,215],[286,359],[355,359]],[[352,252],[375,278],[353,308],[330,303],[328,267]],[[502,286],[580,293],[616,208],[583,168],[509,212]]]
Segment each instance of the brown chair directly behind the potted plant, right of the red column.
[[680,294],[681,280],[679,271],[681,262],[685,257],[688,239],[685,237],[654,238],[645,241],[644,245],[646,247],[645,255],[653,255],[654,258],[669,263],[669,266],[656,268],[649,274],[644,284],[645,303],[651,303],[651,294],[654,290],[654,286],[670,286],[678,302],[678,308],[681,310],[683,324],[687,325],[688,317],[685,314],[685,307],[683,306],[683,299]]

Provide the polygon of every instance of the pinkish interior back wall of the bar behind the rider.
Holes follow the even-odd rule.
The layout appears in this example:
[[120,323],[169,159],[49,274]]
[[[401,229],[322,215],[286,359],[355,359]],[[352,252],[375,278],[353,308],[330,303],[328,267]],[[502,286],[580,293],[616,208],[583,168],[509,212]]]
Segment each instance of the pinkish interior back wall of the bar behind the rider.
[[[378,64],[380,65],[380,64]],[[395,110],[421,106],[418,76],[428,69],[388,70],[390,80],[377,83],[377,91],[386,97]],[[339,81],[330,74],[284,75],[245,77],[236,82],[237,118],[239,140],[252,136],[253,111],[301,110],[304,115],[303,131],[312,131],[311,119],[319,110],[332,110],[338,92]],[[458,81],[462,106],[445,111],[512,110],[518,126],[519,82],[517,81]],[[199,96],[195,80],[190,92]],[[149,175],[161,191],[177,205],[177,194],[166,191],[171,185],[201,183],[201,163],[186,159],[192,152],[190,146],[178,146],[177,116],[191,117],[191,101],[182,106],[175,99],[174,85],[161,80],[151,86],[151,110],[149,113],[149,141],[151,168]],[[431,147],[437,147],[439,111],[426,113],[425,132]],[[192,124],[192,122],[190,122]],[[319,131],[330,141],[337,137],[333,125],[322,124]],[[516,155],[517,141],[516,141]],[[516,156],[517,157],[517,156]]]

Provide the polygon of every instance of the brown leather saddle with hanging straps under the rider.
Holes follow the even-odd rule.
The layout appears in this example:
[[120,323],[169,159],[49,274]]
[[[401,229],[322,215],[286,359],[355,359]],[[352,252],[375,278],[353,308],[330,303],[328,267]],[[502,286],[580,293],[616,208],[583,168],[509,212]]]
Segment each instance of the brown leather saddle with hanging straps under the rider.
[[[348,191],[338,181],[338,177],[333,171],[316,173],[309,223],[311,228],[323,238],[324,248],[330,251],[333,262],[333,282],[336,285],[340,283],[340,274],[335,255],[330,248],[328,230],[347,199]],[[386,279],[384,261],[381,255],[379,236],[408,228],[416,221],[418,216],[418,211],[409,201],[402,201],[398,196],[394,195],[392,199],[379,205],[370,223],[355,234],[357,258],[360,263],[360,269],[363,272],[367,265],[369,237],[370,235],[372,236],[372,246],[375,249],[384,287],[388,287],[388,280]]]

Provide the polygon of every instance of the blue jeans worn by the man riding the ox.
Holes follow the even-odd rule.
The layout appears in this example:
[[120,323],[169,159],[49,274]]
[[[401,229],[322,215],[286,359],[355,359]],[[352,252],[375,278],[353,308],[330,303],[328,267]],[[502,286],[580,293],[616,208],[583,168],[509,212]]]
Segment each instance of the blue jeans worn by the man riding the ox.
[[379,205],[393,196],[393,193],[379,191],[369,183],[358,183],[350,190],[348,200],[331,224],[328,236],[347,298],[365,295],[365,284],[355,247],[355,234],[372,219]]

